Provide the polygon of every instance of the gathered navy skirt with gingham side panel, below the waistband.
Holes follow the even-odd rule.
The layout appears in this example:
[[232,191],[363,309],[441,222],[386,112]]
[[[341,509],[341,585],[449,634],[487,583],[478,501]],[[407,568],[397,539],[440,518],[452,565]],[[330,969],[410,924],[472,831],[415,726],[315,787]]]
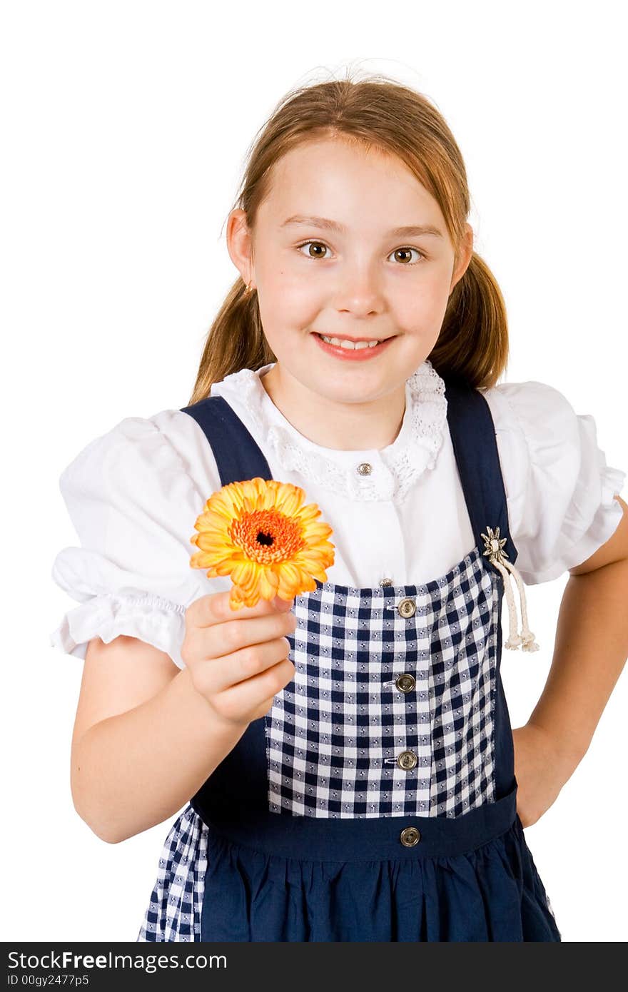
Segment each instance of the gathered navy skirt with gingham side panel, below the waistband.
[[[333,856],[333,845],[330,854]],[[517,815],[463,853],[287,857],[192,806],[174,822],[137,940],[560,941]]]

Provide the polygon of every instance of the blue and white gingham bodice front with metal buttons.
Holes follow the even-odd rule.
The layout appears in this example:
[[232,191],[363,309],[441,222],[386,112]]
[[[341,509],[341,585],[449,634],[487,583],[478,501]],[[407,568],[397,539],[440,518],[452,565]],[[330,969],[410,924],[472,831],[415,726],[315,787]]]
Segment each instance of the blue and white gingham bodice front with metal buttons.
[[493,801],[498,580],[475,548],[424,585],[317,583],[295,598],[294,681],[265,717],[273,811],[459,816]]

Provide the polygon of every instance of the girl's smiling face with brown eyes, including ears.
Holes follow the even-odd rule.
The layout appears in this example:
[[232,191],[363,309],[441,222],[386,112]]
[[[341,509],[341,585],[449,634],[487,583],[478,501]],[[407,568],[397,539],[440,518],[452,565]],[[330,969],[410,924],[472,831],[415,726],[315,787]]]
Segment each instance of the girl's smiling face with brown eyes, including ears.
[[[242,278],[257,289],[284,381],[331,404],[368,405],[404,394],[434,348],[471,257],[466,228],[454,270],[440,207],[406,166],[328,138],[280,160],[252,237],[234,210],[228,241]],[[347,361],[325,351],[316,332],[393,340],[366,361]]]

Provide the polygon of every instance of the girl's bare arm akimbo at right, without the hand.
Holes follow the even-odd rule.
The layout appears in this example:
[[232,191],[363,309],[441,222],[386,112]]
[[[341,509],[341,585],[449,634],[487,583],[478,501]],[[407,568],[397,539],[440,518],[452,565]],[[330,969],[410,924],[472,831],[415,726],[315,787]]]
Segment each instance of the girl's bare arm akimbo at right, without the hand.
[[528,721],[551,745],[561,784],[586,753],[628,656],[628,506],[615,499],[624,513],[613,536],[569,569],[552,667]]

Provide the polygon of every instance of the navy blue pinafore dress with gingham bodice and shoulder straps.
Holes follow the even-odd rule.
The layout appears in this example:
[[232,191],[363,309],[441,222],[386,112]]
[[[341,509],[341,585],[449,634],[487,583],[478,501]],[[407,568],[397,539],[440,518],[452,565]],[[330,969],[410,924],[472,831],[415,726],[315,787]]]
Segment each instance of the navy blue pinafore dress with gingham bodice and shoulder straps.
[[[445,396],[475,546],[421,585],[296,596],[295,677],[173,824],[139,940],[561,940],[516,812],[493,422],[464,382]],[[272,478],[223,397],[184,412],[222,485]]]

